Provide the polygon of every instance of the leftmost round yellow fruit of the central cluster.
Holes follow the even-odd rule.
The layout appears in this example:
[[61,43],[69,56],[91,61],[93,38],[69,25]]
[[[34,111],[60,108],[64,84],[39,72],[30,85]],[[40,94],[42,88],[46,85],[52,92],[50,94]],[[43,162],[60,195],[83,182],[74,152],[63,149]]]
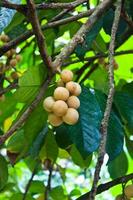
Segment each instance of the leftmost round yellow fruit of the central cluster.
[[55,100],[52,96],[47,97],[43,101],[43,107],[46,111],[52,112],[52,107],[53,107],[54,103],[55,103]]

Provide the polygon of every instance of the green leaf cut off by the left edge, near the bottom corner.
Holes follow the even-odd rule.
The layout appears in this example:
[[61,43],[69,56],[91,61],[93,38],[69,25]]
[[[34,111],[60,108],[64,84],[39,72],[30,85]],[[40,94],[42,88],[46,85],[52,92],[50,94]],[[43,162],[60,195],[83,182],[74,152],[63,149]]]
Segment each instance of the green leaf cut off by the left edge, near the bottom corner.
[[8,180],[8,166],[5,158],[0,155],[0,190],[4,188]]

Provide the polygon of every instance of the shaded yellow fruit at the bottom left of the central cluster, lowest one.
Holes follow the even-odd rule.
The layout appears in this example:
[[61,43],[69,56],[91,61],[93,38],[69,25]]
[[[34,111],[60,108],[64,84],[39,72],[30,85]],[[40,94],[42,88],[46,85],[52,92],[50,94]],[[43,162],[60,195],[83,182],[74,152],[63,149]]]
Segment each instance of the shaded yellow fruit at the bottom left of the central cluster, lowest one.
[[52,126],[60,126],[63,123],[62,118],[58,117],[54,113],[48,115],[48,121]]

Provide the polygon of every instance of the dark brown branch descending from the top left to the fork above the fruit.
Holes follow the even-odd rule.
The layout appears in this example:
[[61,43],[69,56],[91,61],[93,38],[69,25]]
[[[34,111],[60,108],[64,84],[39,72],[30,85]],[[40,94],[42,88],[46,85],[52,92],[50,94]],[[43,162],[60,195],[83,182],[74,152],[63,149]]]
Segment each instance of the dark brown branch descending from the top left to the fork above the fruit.
[[[39,47],[40,55],[42,57],[44,66],[46,65],[48,69],[51,68],[51,57],[47,53],[47,46],[45,42],[45,37],[42,33],[41,26],[39,24],[38,16],[36,13],[36,7],[33,0],[27,0],[27,17],[32,24],[33,32],[37,39],[37,44]],[[50,71],[50,70],[49,70]]]

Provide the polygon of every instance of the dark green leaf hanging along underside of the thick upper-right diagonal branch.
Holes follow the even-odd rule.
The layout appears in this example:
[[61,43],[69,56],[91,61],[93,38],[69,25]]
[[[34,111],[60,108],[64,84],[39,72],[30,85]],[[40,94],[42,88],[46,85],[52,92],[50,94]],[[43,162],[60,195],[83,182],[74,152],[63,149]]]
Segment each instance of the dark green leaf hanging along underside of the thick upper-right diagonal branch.
[[102,28],[103,18],[99,19],[92,29],[85,35],[85,41],[83,44],[78,44],[75,53],[79,58],[83,58],[85,53],[91,48],[94,39],[97,37],[100,29]]

